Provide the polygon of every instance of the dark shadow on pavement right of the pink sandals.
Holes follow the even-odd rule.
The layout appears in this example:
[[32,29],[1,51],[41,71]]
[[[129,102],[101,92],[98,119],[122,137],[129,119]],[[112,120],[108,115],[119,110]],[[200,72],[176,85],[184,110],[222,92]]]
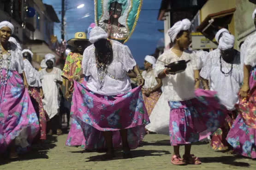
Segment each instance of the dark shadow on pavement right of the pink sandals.
[[200,161],[203,164],[207,163],[222,163],[222,164],[229,164],[238,167],[249,167],[250,164],[245,162],[235,162],[236,159],[241,159],[241,156],[221,156],[221,157],[200,157]]

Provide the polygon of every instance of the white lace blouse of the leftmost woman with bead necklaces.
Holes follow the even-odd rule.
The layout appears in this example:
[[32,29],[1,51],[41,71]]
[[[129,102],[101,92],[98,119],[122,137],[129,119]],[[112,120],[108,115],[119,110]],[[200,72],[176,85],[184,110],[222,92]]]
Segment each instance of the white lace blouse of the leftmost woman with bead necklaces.
[[[24,70],[24,63],[21,51],[18,49],[17,45],[11,43],[11,61],[10,61],[10,70],[17,71],[18,74],[22,74]],[[8,69],[8,58],[7,53],[3,55],[3,69]]]

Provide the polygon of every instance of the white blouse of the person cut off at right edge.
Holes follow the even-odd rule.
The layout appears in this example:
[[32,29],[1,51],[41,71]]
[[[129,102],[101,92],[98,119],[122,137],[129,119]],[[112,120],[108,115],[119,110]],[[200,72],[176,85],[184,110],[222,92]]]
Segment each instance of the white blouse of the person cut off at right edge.
[[256,65],[256,34],[250,35],[241,46],[241,57],[245,65]]

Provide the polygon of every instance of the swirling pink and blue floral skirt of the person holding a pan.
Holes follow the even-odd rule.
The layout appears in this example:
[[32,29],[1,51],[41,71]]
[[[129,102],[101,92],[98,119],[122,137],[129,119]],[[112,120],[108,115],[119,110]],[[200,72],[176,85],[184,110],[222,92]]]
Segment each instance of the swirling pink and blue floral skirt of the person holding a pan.
[[216,92],[198,89],[195,94],[190,100],[169,102],[172,146],[198,142],[225,123],[227,111]]

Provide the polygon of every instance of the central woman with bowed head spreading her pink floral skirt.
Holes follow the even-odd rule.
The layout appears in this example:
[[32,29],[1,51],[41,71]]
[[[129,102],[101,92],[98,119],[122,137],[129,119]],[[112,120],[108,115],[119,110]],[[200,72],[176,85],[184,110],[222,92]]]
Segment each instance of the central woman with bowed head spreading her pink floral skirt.
[[[107,37],[100,27],[90,32],[92,45],[83,53],[83,70],[74,76],[75,80],[89,76],[89,80],[86,86],[75,82],[71,117],[83,129],[85,149],[107,147],[104,159],[112,159],[114,148],[122,148],[126,159],[142,141],[149,123],[141,92],[144,79],[129,48]],[[137,74],[140,86],[135,89],[131,89],[129,71]]]

